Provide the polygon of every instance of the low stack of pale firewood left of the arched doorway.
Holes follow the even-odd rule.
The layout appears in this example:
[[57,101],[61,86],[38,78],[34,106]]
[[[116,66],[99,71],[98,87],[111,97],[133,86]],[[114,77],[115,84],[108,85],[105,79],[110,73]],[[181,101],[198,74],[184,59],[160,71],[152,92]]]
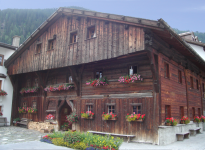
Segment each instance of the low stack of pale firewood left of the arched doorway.
[[58,131],[58,124],[51,124],[50,122],[33,122],[30,121],[28,124],[28,129],[37,130],[42,133],[51,133],[54,130]]

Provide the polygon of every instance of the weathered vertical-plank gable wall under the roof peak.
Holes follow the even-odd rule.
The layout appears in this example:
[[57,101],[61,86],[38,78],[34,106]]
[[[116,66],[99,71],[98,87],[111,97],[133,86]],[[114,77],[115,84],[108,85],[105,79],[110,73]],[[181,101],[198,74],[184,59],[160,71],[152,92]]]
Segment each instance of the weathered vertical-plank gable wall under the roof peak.
[[[36,42],[8,67],[8,74],[20,74],[60,68],[77,64],[110,59],[144,50],[142,28],[124,24],[76,17],[60,17]],[[87,39],[87,28],[95,25],[96,37]],[[70,33],[77,31],[77,42],[70,43]],[[48,50],[48,40],[54,40],[54,49]],[[37,44],[41,42],[41,52]]]

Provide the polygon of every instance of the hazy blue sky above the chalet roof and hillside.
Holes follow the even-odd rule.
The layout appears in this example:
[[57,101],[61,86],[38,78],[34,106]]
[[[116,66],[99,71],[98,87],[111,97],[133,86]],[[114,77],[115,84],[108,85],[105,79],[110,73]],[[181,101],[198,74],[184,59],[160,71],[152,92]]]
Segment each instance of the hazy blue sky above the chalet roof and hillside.
[[151,20],[163,18],[172,28],[205,32],[205,0],[0,0],[1,10],[67,6]]

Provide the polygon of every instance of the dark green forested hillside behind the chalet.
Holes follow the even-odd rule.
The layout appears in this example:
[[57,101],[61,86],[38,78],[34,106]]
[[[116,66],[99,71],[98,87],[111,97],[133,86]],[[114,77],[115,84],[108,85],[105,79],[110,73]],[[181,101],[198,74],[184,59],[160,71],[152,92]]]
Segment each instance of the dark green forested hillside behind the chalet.
[[[84,9],[71,6],[70,8]],[[0,42],[12,44],[14,35],[21,36],[22,44],[57,9],[5,9],[0,10]],[[177,33],[180,31],[174,29]],[[194,32],[205,43],[205,33]]]

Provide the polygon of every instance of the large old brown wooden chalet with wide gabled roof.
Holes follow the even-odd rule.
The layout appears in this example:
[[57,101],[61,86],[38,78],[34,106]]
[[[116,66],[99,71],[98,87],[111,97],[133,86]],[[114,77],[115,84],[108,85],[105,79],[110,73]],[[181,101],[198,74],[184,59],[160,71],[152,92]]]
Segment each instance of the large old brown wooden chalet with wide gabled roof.
[[[163,20],[59,8],[5,62],[12,81],[12,118],[44,121],[53,114],[59,128],[65,115],[92,110],[95,118],[80,119],[77,130],[136,135],[136,141],[158,143],[158,126],[166,117],[179,121],[202,115],[205,106],[205,62]],[[120,83],[133,69],[142,82]],[[93,87],[89,79],[106,77]],[[73,89],[45,91],[70,83]],[[34,93],[20,93],[25,87]],[[18,107],[37,108],[19,114]],[[143,122],[129,123],[137,109]],[[103,112],[117,120],[102,120]]]

